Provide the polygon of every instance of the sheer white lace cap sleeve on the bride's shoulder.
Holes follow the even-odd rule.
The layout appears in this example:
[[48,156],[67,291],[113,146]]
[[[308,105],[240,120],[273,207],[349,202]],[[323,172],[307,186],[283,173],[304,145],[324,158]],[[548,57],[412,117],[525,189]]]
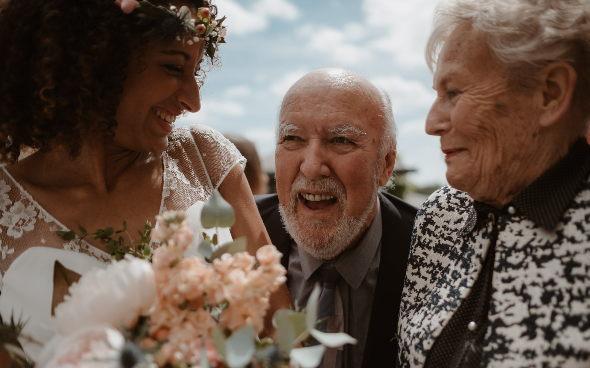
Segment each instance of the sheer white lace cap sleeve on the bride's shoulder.
[[244,170],[245,157],[223,134],[205,125],[193,125],[191,134],[215,189],[235,165],[239,164]]

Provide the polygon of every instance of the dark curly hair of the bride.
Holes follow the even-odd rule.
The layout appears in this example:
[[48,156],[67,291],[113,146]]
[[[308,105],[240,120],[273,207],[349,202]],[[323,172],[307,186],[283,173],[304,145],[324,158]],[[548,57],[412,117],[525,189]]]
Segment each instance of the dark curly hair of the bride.
[[137,19],[114,0],[0,0],[0,160],[50,144],[75,157],[81,135],[112,134],[132,48],[149,42]]

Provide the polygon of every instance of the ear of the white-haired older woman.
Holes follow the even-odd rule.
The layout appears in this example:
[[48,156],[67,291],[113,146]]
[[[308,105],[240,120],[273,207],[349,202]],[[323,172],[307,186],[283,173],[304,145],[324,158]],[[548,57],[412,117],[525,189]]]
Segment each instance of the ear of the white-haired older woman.
[[541,112],[539,123],[550,127],[568,114],[578,74],[568,62],[556,61],[543,68],[538,76],[535,100]]

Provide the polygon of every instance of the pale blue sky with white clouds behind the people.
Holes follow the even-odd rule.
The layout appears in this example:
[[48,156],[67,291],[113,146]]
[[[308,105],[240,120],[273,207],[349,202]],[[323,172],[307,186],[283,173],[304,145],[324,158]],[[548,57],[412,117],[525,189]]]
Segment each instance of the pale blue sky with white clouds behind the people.
[[438,137],[424,132],[434,101],[424,45],[439,0],[215,0],[227,15],[221,67],[207,75],[202,108],[177,126],[205,124],[274,152],[284,93],[306,72],[342,67],[384,87],[399,128],[398,154],[418,185],[446,184]]

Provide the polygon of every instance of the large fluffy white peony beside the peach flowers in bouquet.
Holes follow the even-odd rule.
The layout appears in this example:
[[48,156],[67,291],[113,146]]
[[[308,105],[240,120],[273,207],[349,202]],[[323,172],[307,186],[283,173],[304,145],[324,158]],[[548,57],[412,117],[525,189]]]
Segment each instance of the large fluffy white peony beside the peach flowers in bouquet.
[[104,269],[91,270],[73,284],[70,296],[55,308],[55,326],[64,335],[95,324],[131,327],[139,316],[148,314],[155,297],[152,266],[127,255]]

